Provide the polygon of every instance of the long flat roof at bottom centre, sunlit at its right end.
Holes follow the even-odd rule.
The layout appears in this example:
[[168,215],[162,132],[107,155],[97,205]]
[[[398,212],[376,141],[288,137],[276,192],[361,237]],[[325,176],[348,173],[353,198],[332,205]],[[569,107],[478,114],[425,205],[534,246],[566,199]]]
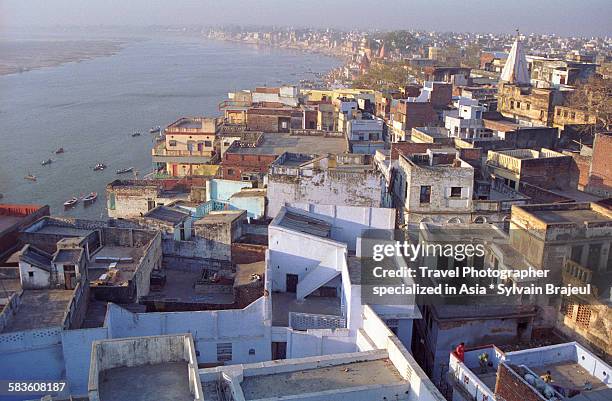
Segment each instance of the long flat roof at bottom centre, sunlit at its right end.
[[404,382],[388,358],[262,376],[246,376],[241,383],[246,400],[303,395],[351,387]]

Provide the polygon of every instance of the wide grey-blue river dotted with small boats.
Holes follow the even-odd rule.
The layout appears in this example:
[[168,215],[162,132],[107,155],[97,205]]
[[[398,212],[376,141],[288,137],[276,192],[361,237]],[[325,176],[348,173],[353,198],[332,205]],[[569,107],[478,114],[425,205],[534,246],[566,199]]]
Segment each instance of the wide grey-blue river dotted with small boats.
[[[297,83],[338,64],[290,50],[163,37],[127,41],[112,56],[0,76],[0,202],[104,219],[104,188],[115,171],[151,171],[150,127],[220,115],[227,92]],[[135,130],[142,135],[131,137]],[[65,153],[55,155],[59,147]],[[93,171],[97,162],[108,168]],[[65,200],[91,191],[99,194],[95,204],[64,210]]]

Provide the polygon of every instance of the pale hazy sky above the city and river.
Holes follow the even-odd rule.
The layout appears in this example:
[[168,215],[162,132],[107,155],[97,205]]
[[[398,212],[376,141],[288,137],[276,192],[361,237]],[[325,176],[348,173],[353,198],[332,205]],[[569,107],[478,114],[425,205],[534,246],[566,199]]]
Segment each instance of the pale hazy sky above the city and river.
[[611,0],[0,0],[0,25],[261,24],[612,36]]

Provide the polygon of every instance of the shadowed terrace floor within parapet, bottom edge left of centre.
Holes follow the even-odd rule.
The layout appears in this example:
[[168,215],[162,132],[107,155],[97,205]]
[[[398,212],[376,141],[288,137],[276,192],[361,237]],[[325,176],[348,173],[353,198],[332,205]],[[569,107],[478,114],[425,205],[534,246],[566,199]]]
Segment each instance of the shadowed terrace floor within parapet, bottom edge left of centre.
[[104,371],[100,401],[193,401],[187,363],[161,363]]

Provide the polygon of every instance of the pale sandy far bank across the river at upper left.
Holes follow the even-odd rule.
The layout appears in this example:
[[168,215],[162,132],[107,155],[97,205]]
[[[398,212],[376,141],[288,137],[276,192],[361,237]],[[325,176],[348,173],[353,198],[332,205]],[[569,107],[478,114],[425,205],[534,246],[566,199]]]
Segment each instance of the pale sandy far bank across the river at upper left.
[[125,47],[117,40],[16,40],[0,41],[0,76],[109,57]]

